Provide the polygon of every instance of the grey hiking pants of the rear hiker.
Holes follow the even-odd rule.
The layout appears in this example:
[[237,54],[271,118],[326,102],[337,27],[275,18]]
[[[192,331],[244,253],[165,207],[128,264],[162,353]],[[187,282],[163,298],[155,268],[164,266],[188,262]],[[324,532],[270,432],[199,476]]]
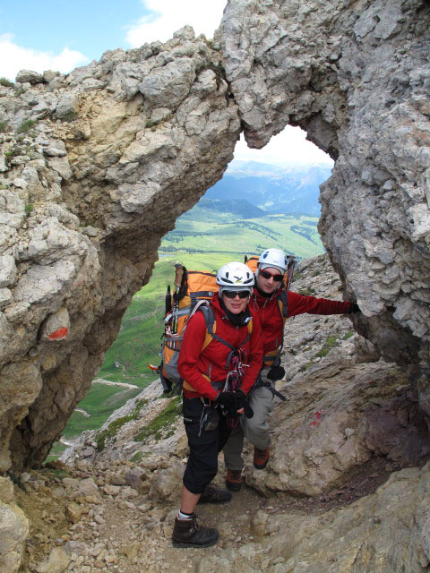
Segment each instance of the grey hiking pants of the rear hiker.
[[[265,372],[261,373],[262,381],[269,381]],[[270,381],[273,384],[272,381]],[[244,467],[242,449],[244,437],[256,449],[269,448],[271,437],[269,435],[269,415],[275,407],[275,397],[270,389],[255,388],[249,396],[250,406],[254,410],[252,418],[240,416],[240,423],[230,433],[226,445],[223,448],[224,462],[227,469],[239,470]]]

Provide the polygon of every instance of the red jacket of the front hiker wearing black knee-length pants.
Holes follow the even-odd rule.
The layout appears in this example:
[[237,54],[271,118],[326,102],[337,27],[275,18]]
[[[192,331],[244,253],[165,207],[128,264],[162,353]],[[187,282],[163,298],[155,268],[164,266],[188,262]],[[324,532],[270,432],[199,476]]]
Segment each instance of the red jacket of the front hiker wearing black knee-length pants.
[[[216,293],[212,297],[211,306],[215,313],[216,331],[215,333],[226,340],[232,346],[241,346],[244,350],[245,375],[242,379],[241,389],[247,394],[254,386],[258,373],[262,367],[262,336],[258,319],[253,315],[253,330],[249,340],[242,346],[248,335],[248,327],[236,327],[226,316],[226,313],[219,306],[219,296]],[[184,389],[186,398],[203,397],[214,400],[218,396],[218,390],[212,388],[211,381],[225,381],[228,370],[226,361],[230,348],[212,338],[204,350],[202,350],[204,338],[206,336],[206,322],[202,312],[196,312],[187,324],[185,337],[182,341],[177,371],[190,384],[195,392]]]

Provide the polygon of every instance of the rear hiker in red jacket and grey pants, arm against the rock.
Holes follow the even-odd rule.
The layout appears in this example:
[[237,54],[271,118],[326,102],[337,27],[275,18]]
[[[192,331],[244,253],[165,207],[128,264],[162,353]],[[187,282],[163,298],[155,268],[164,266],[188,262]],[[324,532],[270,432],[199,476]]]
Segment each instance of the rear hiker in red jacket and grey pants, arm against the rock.
[[231,432],[224,446],[227,468],[226,484],[237,492],[242,483],[244,435],[254,446],[254,467],[264,469],[270,456],[269,415],[274,408],[273,384],[285,371],[280,366],[284,324],[287,318],[303,314],[342,314],[357,312],[357,304],[331,301],[327,298],[297,295],[286,291],[284,275],[288,259],[279,249],[262,252],[255,273],[256,283],[250,309],[260,319],[262,327],[263,363],[255,388],[249,396],[254,410],[252,419],[241,417],[241,423]]

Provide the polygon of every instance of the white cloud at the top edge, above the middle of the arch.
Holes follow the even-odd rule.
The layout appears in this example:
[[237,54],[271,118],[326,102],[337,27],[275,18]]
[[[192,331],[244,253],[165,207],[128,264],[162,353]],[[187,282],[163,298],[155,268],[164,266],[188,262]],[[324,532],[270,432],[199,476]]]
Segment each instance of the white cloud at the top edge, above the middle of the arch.
[[142,0],[142,4],[151,14],[128,30],[125,39],[131,47],[155,40],[165,42],[185,24],[193,26],[196,36],[205,34],[206,38],[212,38],[227,0]]

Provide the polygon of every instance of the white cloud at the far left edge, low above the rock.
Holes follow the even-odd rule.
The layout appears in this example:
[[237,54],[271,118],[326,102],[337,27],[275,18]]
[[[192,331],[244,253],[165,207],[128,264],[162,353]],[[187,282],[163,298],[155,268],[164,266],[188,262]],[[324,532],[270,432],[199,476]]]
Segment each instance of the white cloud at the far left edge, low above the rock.
[[78,65],[85,65],[90,62],[87,56],[81,52],[70,50],[64,47],[60,54],[52,52],[39,52],[37,50],[21,47],[13,43],[12,34],[0,36],[0,77],[13,80],[20,70],[33,70],[34,72],[45,72],[54,70],[55,72],[68,73]]

